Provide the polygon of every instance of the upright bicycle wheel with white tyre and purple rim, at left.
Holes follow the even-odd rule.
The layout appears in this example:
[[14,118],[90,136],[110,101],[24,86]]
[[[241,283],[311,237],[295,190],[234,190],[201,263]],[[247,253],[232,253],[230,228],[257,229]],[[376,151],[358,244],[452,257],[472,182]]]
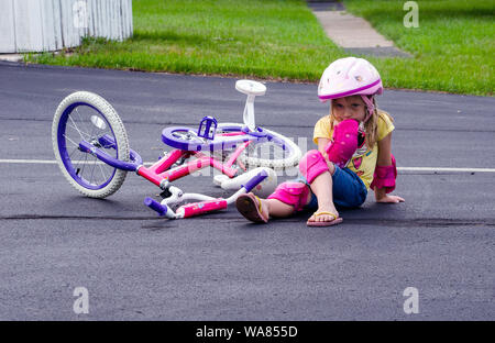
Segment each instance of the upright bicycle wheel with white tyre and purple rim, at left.
[[[107,140],[100,140],[103,136]],[[82,152],[79,148],[82,140],[129,162],[129,141],[122,121],[110,103],[88,91],[74,92],[61,102],[53,120],[52,142],[58,166],[70,185],[87,197],[106,198],[122,186],[127,172]]]

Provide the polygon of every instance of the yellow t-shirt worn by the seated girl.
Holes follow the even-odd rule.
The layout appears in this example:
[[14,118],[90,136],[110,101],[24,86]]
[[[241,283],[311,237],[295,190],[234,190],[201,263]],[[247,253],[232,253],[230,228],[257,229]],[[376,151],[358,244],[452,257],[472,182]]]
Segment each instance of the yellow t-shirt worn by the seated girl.
[[[378,139],[376,142],[386,137],[395,126],[392,123],[388,115],[378,110]],[[318,139],[331,140],[333,130],[330,131],[330,115],[321,118],[315,125],[315,133],[312,141],[318,144]],[[378,158],[378,144],[375,143],[373,148],[367,147],[364,154],[354,154],[346,167],[354,172],[364,182],[366,189],[370,189],[370,185],[373,181],[373,174],[375,173],[376,159]]]

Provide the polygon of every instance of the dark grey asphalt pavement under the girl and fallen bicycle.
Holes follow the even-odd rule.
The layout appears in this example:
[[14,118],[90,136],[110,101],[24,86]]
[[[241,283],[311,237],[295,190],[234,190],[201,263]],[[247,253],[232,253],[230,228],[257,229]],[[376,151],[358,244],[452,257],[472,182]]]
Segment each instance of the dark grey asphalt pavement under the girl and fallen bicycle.
[[[0,320],[493,320],[494,98],[387,89],[406,202],[370,192],[332,228],[307,228],[309,213],[255,225],[233,207],[160,219],[143,204],[158,190],[138,175],[95,200],[54,164],[52,119],[73,91],[106,98],[154,162],[167,125],[241,122],[235,80],[0,63]],[[317,85],[266,86],[257,124],[314,148],[328,112]],[[207,175],[176,185],[230,195]],[[77,287],[89,313],[74,311]],[[404,310],[408,287],[418,313]]]

